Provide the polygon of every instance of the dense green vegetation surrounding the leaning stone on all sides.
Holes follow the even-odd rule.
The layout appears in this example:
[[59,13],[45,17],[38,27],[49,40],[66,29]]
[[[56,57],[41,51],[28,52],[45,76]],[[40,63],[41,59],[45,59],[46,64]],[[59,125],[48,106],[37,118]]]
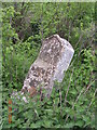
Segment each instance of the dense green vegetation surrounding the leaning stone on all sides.
[[[43,39],[54,34],[75,51],[63,82],[55,81],[50,100],[13,99],[9,123],[11,93],[22,89]],[[2,3],[2,127],[95,128],[94,43],[95,3]]]

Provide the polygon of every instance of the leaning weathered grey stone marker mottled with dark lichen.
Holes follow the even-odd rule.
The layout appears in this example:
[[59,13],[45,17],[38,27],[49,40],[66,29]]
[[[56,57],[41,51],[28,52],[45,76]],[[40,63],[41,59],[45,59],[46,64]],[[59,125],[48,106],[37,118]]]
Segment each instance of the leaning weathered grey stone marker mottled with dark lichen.
[[46,96],[50,98],[54,80],[63,81],[64,72],[68,69],[73,53],[72,46],[58,35],[46,38],[38,58],[28,72],[22,91],[29,92],[30,88],[37,88],[42,83],[42,88],[46,90]]

